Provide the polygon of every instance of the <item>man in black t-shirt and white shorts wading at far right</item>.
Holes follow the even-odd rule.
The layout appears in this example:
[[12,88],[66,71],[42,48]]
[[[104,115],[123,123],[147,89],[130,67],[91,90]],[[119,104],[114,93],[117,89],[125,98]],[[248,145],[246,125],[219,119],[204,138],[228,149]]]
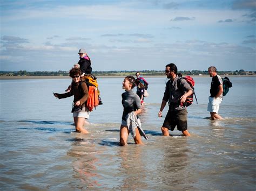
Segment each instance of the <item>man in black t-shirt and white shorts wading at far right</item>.
[[223,100],[223,81],[214,66],[208,68],[208,73],[212,77],[212,82],[207,111],[210,111],[212,120],[223,119],[218,114],[220,103]]

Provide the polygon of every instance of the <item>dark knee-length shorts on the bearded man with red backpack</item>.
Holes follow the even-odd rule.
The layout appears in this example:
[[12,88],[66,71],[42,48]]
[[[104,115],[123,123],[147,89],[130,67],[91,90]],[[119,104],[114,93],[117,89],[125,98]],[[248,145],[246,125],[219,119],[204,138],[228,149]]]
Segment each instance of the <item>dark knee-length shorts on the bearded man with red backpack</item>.
[[177,125],[179,131],[187,130],[187,110],[168,111],[164,119],[164,128],[173,131]]

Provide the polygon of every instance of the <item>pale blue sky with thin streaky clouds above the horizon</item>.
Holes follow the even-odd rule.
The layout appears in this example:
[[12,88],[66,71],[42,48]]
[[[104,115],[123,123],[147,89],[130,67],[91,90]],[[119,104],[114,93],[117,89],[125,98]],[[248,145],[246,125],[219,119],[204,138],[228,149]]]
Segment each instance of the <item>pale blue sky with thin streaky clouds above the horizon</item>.
[[256,70],[255,0],[0,2],[0,70]]

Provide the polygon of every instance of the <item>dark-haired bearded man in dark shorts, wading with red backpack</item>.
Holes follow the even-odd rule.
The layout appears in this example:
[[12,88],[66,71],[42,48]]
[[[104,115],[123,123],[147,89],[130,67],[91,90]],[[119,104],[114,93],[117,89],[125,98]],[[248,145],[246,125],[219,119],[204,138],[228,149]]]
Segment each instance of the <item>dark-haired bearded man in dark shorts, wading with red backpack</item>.
[[170,80],[166,83],[163,101],[158,112],[158,117],[162,117],[163,109],[169,102],[169,111],[161,127],[163,136],[170,136],[169,130],[173,131],[176,126],[184,136],[190,136],[187,130],[187,110],[184,103],[187,97],[193,94],[193,89],[185,79],[177,75],[177,70],[174,63],[165,66],[165,74]]

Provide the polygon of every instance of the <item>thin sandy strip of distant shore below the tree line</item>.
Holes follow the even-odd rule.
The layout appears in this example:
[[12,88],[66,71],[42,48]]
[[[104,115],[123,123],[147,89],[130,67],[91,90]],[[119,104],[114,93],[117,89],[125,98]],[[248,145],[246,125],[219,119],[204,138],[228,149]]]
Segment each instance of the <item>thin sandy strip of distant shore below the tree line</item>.
[[[97,76],[97,75],[96,75]],[[123,78],[126,75],[98,75],[101,78]],[[227,77],[255,77],[256,75],[228,75]],[[149,77],[166,77],[165,75],[143,75],[145,78]],[[191,77],[210,77],[208,75],[191,75]],[[221,75],[221,77],[224,77]],[[0,76],[0,80],[29,80],[29,79],[70,79],[69,76]]]

